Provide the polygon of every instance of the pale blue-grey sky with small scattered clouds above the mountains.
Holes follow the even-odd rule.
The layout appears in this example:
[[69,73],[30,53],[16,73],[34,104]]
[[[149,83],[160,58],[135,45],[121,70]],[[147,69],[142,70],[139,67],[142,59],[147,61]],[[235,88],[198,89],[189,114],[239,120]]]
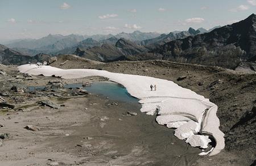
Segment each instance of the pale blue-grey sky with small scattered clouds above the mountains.
[[256,0],[0,0],[0,41],[212,28],[256,14]]

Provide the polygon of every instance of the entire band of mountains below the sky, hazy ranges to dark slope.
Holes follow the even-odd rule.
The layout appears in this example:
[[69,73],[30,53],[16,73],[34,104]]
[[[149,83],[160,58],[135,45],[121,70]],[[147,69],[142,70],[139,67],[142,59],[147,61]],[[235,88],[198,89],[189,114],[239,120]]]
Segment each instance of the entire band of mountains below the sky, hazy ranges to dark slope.
[[[27,61],[43,61],[50,56],[38,53],[46,49],[49,53],[76,54],[101,62],[164,59],[236,69],[241,63],[251,65],[256,62],[256,15],[209,30],[189,28],[188,31],[162,35],[139,31],[122,32],[115,36],[48,35],[38,40],[16,41],[7,46],[0,45],[0,63],[19,65]],[[31,54],[37,56],[31,57]],[[255,66],[251,69],[256,70]]]

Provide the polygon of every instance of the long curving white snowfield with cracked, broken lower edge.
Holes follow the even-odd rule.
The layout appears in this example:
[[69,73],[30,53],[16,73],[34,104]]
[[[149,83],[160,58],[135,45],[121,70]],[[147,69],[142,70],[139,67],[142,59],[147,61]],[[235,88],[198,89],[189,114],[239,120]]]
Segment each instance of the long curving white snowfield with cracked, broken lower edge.
[[[122,84],[131,96],[137,97],[142,104],[141,112],[154,115],[160,125],[176,128],[175,136],[184,139],[194,147],[207,148],[209,139],[215,146],[208,152],[199,155],[218,154],[225,147],[224,133],[218,129],[220,121],[216,116],[217,105],[204,96],[182,88],[170,80],[149,76],[110,73],[94,69],[58,69],[51,66],[22,65],[21,73],[44,76],[60,76],[64,79],[82,78],[86,76],[103,76],[110,81]],[[157,90],[151,91],[150,85]]]

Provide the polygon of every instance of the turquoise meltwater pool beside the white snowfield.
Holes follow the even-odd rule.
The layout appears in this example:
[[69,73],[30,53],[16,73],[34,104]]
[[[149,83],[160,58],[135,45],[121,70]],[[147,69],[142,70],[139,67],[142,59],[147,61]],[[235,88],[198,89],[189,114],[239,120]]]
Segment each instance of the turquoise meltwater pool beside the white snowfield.
[[[65,88],[79,88],[82,87],[81,83],[76,84],[68,84],[64,86]],[[121,84],[114,82],[94,82],[91,86],[82,87],[86,91],[96,94],[103,95],[109,97],[109,99],[125,101],[125,102],[136,102],[138,103],[138,99],[131,96],[125,87]]]

